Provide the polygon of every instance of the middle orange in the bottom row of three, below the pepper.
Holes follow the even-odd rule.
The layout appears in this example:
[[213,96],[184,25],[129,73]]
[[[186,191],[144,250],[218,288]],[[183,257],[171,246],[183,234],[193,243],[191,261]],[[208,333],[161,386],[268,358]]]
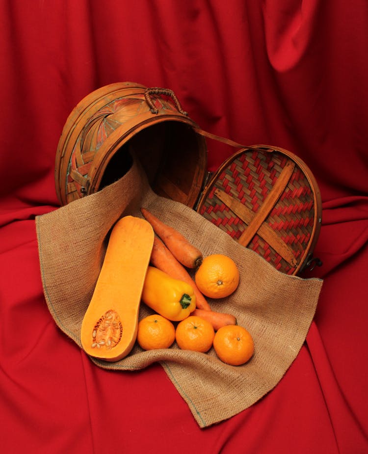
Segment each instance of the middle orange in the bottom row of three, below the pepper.
[[182,350],[205,353],[212,347],[214,329],[209,321],[191,315],[176,327],[175,338]]

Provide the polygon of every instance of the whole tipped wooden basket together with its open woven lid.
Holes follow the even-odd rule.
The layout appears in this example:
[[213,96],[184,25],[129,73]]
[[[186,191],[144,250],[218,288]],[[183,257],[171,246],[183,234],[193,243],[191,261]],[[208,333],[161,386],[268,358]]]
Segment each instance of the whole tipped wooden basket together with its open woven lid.
[[[239,148],[208,183],[206,138]],[[280,271],[299,274],[320,265],[313,249],[321,200],[307,165],[282,148],[246,147],[201,130],[165,88],[114,83],[80,101],[56,153],[60,203],[121,178],[132,156],[158,195],[196,209]]]

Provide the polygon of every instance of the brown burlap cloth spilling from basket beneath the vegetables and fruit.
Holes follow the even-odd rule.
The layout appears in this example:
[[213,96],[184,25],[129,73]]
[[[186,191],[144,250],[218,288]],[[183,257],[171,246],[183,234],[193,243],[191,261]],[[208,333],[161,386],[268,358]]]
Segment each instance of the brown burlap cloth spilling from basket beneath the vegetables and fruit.
[[[169,349],[143,351],[99,367],[120,371],[159,362],[200,427],[239,413],[268,393],[303,345],[315,314],[322,281],[278,272],[255,252],[237,244],[194,210],[158,197],[137,163],[116,183],[36,218],[40,267],[49,310],[60,329],[81,347],[79,330],[102,265],[106,236],[125,214],[143,206],[175,226],[204,256],[224,253],[240,270],[235,294],[209,300],[214,310],[233,313],[253,335],[255,353],[243,366],[228,366],[209,353]],[[129,260],[129,258],[128,258]],[[143,304],[140,318],[148,315]]]

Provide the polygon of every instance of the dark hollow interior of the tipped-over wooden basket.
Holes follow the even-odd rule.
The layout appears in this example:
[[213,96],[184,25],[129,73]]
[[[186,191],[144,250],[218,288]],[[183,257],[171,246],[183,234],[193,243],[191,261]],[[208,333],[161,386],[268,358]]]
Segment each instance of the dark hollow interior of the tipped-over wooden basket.
[[121,178],[133,155],[158,195],[194,206],[207,170],[207,147],[189,125],[162,121],[134,134],[110,158],[100,188]]

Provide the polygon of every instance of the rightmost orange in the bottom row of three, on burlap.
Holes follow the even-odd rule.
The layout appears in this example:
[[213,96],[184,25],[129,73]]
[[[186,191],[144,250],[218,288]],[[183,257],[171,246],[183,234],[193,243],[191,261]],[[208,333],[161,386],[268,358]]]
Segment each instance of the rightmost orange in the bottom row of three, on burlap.
[[254,353],[251,334],[239,325],[222,326],[216,331],[213,348],[220,360],[231,366],[246,363]]

